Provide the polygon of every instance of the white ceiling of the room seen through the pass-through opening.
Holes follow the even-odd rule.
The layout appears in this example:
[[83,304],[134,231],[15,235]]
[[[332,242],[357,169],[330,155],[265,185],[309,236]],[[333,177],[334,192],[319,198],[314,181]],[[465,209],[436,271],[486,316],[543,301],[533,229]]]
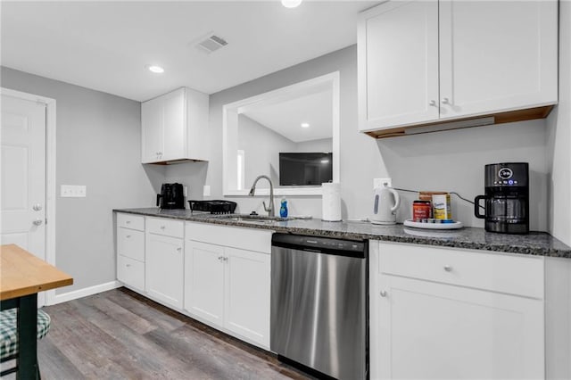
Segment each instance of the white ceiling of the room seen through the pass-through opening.
[[[331,89],[298,96],[284,102],[252,107],[244,115],[273,129],[294,143],[333,137],[333,102]],[[302,122],[310,124],[302,128]]]

